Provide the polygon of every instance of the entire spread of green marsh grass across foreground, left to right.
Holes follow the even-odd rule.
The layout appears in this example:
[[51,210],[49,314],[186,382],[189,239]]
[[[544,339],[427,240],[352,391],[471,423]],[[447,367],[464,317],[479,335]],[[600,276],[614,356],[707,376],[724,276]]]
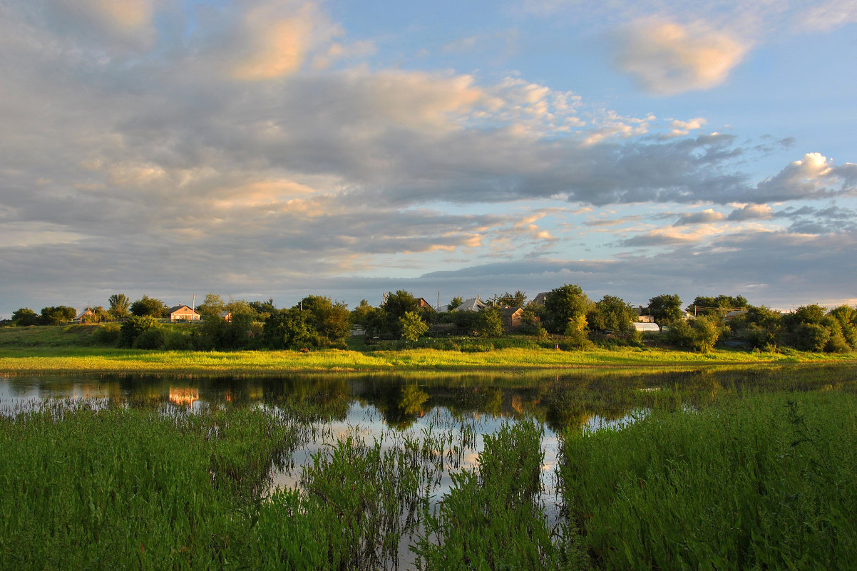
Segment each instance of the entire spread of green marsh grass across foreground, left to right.
[[484,436],[476,467],[434,505],[438,462],[470,454],[472,434],[340,436],[299,488],[269,491],[271,466],[330,414],[84,402],[0,418],[0,568],[381,569],[402,538],[423,569],[857,561],[850,389],[733,394],[622,430],[569,430],[555,525],[536,502],[543,428],[525,417]]

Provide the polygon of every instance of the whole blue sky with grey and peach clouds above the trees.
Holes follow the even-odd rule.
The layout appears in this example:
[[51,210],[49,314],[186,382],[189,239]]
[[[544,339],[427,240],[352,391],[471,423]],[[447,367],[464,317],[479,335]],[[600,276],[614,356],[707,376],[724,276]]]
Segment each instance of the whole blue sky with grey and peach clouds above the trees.
[[857,304],[857,0],[0,0],[0,316]]

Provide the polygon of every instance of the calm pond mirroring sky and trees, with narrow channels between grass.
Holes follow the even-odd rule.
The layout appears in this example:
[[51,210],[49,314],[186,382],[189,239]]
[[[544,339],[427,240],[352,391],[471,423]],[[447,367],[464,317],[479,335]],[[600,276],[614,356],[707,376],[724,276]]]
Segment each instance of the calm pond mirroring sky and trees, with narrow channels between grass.
[[[436,510],[455,475],[478,472],[485,436],[535,419],[541,425],[541,486],[534,498],[558,532],[556,482],[565,430],[620,429],[655,408],[698,408],[751,392],[854,387],[853,366],[576,370],[511,374],[317,375],[280,378],[177,376],[0,377],[0,414],[7,417],[45,401],[85,401],[101,408],[156,407],[168,414],[206,414],[256,408],[283,414],[312,408],[311,430],[284,458],[273,461],[262,496],[308,490],[343,442],[365,454],[422,450],[419,496]],[[421,448],[422,447],[422,448]],[[378,558],[383,568],[414,568],[411,545],[423,525],[411,505],[390,524],[399,542]],[[377,565],[376,565],[377,567]]]

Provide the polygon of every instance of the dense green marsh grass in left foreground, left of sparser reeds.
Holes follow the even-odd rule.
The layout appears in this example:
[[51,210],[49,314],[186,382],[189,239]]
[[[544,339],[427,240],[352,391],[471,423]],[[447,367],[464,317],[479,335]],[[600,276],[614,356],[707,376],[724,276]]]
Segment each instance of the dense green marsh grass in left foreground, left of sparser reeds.
[[252,409],[54,403],[2,418],[0,568],[223,568],[234,514],[289,436]]

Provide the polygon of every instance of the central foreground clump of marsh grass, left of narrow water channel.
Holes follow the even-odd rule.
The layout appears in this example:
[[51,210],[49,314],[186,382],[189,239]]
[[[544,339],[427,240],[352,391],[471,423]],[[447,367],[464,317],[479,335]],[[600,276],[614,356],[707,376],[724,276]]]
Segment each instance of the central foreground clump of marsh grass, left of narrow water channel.
[[417,546],[422,569],[560,569],[584,561],[576,534],[548,526],[542,490],[541,424],[506,424],[484,436],[478,469],[426,509]]

